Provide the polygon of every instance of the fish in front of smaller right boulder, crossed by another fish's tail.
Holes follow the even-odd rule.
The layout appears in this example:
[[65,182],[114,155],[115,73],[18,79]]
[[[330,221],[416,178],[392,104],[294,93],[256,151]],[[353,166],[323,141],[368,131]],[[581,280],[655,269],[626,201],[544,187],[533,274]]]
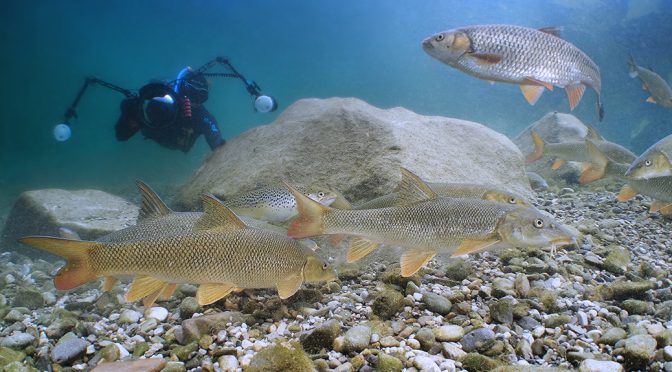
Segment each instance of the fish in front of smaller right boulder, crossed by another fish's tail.
[[[534,150],[527,156],[525,161],[533,163],[544,156],[555,157],[551,166],[552,169],[560,168],[565,162],[577,161],[588,162],[588,151],[585,139],[582,141],[547,143],[536,131],[531,131],[532,141],[534,141]],[[617,163],[632,163],[636,156],[632,151],[625,147],[605,140],[593,140],[593,143],[606,154],[610,159]]]

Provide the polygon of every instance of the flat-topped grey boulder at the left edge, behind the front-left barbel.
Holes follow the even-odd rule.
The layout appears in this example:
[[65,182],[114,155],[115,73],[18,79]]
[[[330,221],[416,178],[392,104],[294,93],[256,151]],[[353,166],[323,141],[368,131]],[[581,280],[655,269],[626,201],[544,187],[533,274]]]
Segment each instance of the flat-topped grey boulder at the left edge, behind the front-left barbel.
[[41,251],[16,240],[26,235],[59,236],[61,227],[75,231],[84,240],[94,240],[134,225],[137,218],[137,206],[99,190],[26,191],[7,217],[0,249],[36,256]]

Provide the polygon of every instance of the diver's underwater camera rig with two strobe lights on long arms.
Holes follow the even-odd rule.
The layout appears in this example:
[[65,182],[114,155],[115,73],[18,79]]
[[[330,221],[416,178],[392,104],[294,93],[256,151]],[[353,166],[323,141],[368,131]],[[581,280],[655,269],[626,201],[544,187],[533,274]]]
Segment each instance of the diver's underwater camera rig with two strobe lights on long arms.
[[[215,65],[222,65],[227,71],[206,72]],[[189,97],[190,102],[197,104],[201,104],[208,99],[206,77],[240,79],[247,92],[254,98],[253,108],[256,112],[267,113],[278,109],[278,102],[275,98],[262,94],[259,85],[255,81],[247,80],[233,67],[228,59],[217,57],[196,70],[184,69],[177,79],[168,83],[149,83],[143,86],[138,94],[96,77],[87,77],[75,100],[63,115],[63,121],[53,127],[54,139],[59,142],[70,139],[72,135],[70,120],[77,118],[77,105],[91,85],[101,85],[123,94],[127,100],[134,102],[131,107],[133,110],[137,110],[136,112],[141,113],[138,116],[144,125],[150,128],[162,128],[175,122],[185,101],[184,96]]]

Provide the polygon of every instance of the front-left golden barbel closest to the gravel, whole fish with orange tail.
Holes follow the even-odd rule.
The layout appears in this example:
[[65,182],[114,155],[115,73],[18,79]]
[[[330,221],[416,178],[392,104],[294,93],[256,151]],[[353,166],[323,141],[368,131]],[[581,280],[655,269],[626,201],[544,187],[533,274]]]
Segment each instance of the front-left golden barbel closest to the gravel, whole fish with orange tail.
[[189,234],[123,243],[42,236],[19,242],[67,259],[54,278],[60,290],[103,276],[136,275],[128,301],[156,298],[176,283],[200,284],[196,296],[201,305],[244,288],[275,287],[285,299],[304,281],[336,278],[329,264],[299,242],[248,227],[214,196],[203,200],[205,212]]

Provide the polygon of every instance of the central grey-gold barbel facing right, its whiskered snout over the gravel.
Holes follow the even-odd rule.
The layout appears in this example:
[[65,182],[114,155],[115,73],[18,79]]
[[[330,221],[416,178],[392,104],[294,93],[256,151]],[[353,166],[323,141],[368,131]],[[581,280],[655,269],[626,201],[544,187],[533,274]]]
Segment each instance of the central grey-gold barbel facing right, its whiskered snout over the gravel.
[[401,200],[406,201],[400,206],[340,210],[293,191],[299,216],[291,222],[287,233],[293,238],[354,235],[348,262],[366,256],[381,243],[405,247],[401,272],[406,277],[438,252],[464,255],[494,246],[544,247],[574,241],[574,235],[566,227],[534,207],[440,197],[419,178],[402,183],[398,192]]

